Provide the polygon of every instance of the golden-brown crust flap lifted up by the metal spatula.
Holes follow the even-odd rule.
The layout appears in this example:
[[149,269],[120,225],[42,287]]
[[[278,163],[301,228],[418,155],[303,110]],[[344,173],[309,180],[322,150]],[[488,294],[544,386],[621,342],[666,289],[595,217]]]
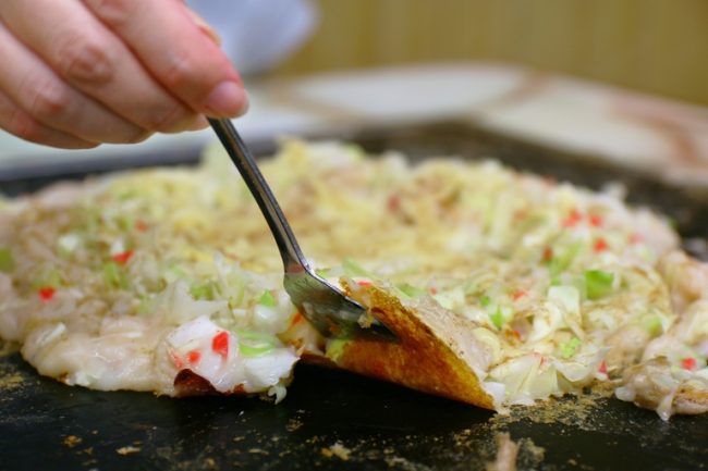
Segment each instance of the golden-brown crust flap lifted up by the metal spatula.
[[[375,287],[364,292],[352,294],[352,297],[369,306],[401,342],[347,343],[335,359],[340,368],[493,409],[492,398],[481,388],[472,365],[465,361],[474,355],[474,350],[471,351],[471,346],[476,344],[472,336],[474,324],[442,309],[406,309],[399,299]],[[461,339],[468,344],[463,345]]]

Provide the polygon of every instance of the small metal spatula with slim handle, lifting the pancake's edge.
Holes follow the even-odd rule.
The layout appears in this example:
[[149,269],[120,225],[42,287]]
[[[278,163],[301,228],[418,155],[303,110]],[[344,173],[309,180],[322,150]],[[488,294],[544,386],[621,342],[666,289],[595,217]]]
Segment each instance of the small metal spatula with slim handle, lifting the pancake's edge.
[[395,340],[395,335],[363,306],[347,298],[309,268],[276,197],[231,121],[209,119],[209,124],[268,222],[283,259],[285,290],[305,319],[326,337]]

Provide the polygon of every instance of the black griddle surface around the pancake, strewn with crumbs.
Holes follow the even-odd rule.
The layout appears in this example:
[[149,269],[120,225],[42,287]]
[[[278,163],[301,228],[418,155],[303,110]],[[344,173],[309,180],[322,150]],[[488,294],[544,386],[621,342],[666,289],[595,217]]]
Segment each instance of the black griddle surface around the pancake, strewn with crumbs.
[[[688,248],[706,256],[708,195],[701,188],[672,186],[648,172],[459,123],[335,137],[370,151],[402,150],[414,160],[493,156],[516,169],[594,188],[621,182],[630,201],[673,218],[692,241]],[[255,147],[261,153],[273,149],[272,142]],[[196,160],[195,150],[174,163]],[[0,191],[33,191],[117,165],[0,174]],[[0,471],[484,470],[502,432],[521,444],[520,470],[708,469],[708,416],[663,422],[613,398],[567,397],[502,417],[355,374],[298,365],[279,405],[242,397],[171,399],[69,387],[39,376],[19,354],[0,359]]]

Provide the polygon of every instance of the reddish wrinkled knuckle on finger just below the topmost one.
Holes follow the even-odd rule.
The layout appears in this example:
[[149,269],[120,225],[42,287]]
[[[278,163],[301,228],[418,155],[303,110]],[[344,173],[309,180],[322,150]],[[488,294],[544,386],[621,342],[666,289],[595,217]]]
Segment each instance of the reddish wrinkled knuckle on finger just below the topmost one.
[[111,80],[114,60],[100,40],[71,35],[59,47],[58,69],[69,80],[101,85]]

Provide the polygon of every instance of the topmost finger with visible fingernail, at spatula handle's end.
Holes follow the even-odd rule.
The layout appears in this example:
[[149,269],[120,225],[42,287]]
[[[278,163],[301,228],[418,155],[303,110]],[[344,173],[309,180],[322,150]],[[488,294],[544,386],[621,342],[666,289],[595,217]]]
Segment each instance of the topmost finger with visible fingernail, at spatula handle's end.
[[192,109],[212,116],[235,116],[245,110],[239,74],[182,2],[84,2],[127,42],[158,82]]

